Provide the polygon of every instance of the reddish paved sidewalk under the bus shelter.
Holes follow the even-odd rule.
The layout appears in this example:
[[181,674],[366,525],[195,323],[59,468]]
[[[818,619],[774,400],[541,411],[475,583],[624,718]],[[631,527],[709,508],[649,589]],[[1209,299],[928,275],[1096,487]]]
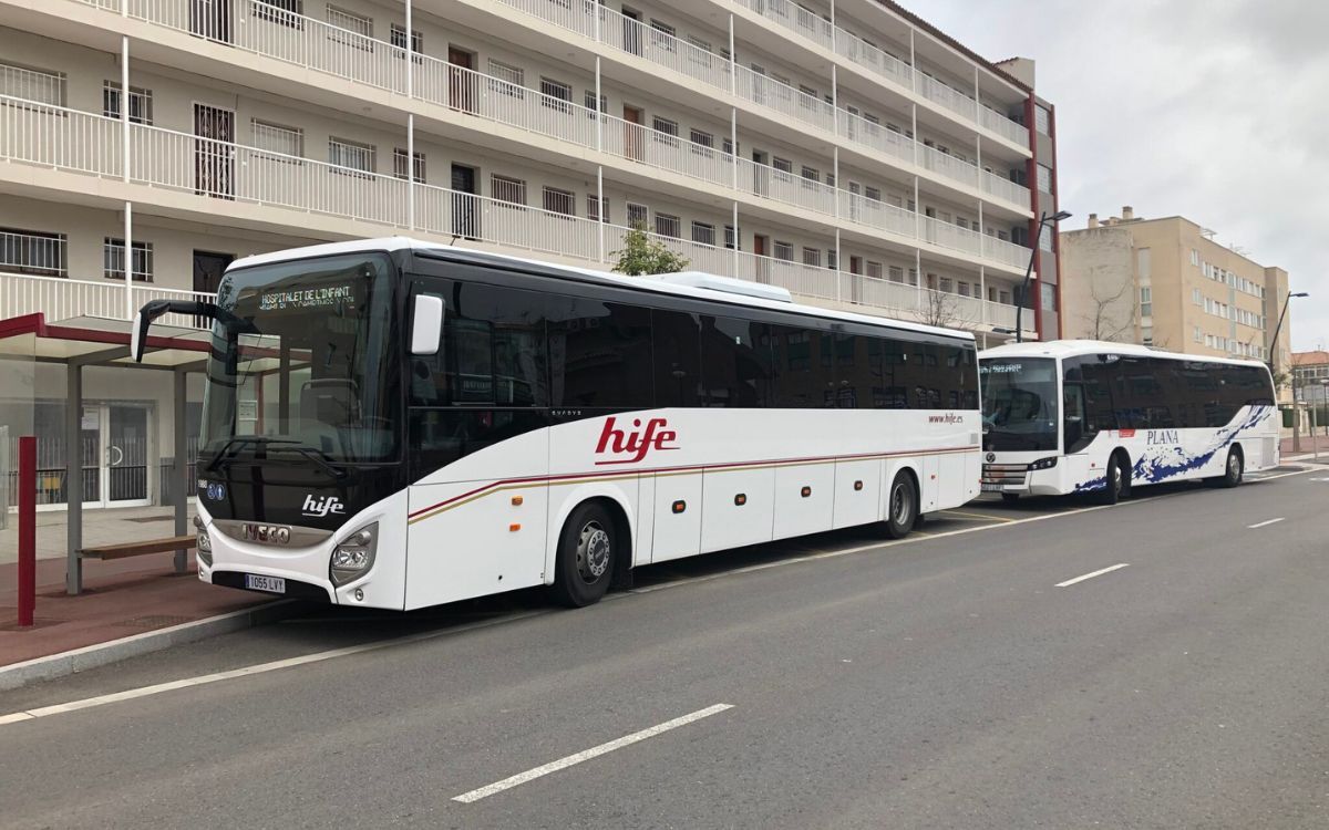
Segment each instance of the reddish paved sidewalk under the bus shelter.
[[177,575],[173,556],[166,552],[85,562],[84,592],[78,596],[65,594],[64,559],[39,559],[32,628],[17,627],[17,566],[0,564],[0,667],[254,608],[275,599],[198,582],[193,555],[189,572]]

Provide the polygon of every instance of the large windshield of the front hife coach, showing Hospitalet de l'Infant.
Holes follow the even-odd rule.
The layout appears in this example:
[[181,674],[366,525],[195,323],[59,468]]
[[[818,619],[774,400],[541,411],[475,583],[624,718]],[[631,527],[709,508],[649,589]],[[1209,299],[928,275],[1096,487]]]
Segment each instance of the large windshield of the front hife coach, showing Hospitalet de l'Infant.
[[201,459],[393,461],[400,445],[392,264],[355,254],[245,268],[222,312],[203,390]]

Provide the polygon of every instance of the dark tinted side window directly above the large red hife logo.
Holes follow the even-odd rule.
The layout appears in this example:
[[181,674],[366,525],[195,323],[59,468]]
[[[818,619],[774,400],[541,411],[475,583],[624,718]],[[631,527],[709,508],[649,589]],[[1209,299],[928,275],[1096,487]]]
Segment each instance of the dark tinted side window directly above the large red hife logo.
[[553,297],[552,303],[549,385],[553,405],[651,406],[651,312],[566,296]]

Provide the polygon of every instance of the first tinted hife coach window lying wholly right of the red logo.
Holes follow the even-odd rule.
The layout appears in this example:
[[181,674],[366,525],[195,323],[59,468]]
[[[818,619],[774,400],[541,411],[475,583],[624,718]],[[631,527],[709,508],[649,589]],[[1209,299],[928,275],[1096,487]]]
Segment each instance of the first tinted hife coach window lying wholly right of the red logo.
[[768,325],[702,316],[703,406],[769,406],[773,371]]

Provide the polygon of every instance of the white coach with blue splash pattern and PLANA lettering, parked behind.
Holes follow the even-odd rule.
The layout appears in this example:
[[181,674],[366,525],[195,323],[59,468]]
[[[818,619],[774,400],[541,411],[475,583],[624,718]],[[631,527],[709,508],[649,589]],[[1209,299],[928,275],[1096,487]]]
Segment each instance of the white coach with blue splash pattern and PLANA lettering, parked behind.
[[1278,465],[1264,364],[1094,340],[1007,344],[978,355],[983,491],[1096,494],[1209,479],[1235,487]]

